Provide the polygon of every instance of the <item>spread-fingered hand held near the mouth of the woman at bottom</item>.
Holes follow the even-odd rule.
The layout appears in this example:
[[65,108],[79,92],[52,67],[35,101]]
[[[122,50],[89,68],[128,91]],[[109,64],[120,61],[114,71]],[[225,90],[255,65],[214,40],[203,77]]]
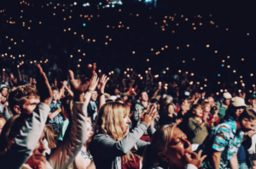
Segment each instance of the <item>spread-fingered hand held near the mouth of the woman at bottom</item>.
[[204,155],[201,157],[201,150],[198,152],[198,155],[196,155],[195,152],[186,153],[184,155],[184,162],[186,164],[193,164],[197,168],[201,166],[201,162],[204,161],[207,158],[207,155]]

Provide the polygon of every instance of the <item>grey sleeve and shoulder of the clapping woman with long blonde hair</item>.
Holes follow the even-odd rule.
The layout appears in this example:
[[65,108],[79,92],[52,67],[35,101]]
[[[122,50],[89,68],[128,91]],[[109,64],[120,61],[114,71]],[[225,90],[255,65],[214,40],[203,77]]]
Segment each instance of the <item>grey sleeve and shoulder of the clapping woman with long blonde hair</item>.
[[93,143],[90,149],[91,155],[93,157],[96,156],[97,158],[114,158],[126,155],[132,147],[137,144],[147,128],[148,126],[146,124],[141,123],[129,132],[121,141],[114,141],[113,138],[110,138],[106,134],[98,134],[92,140]]

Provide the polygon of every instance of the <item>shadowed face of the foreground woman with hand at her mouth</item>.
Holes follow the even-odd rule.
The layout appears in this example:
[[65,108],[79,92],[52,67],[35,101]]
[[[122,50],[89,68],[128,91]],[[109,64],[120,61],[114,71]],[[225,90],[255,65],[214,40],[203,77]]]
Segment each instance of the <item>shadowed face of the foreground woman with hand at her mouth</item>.
[[166,149],[164,156],[167,158],[163,160],[168,162],[168,165],[172,166],[172,168],[184,168],[186,165],[184,155],[192,152],[192,147],[186,134],[175,127],[172,134],[172,140],[167,144]]

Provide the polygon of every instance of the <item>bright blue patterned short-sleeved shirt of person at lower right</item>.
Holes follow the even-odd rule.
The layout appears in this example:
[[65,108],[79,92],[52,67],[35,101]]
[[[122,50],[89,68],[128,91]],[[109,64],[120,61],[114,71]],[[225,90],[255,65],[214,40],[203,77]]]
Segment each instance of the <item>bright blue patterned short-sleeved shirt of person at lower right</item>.
[[204,143],[201,145],[207,159],[202,162],[202,168],[213,168],[212,153],[213,151],[221,151],[219,169],[228,165],[232,155],[238,151],[241,145],[244,132],[237,133],[236,121],[228,121],[219,124],[212,129]]

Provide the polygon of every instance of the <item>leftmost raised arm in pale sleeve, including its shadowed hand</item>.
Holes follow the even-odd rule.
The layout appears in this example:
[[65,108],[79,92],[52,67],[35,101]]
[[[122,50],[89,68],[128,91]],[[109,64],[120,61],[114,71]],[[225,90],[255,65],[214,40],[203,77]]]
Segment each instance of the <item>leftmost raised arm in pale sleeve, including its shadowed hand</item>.
[[21,127],[20,132],[15,136],[15,143],[0,158],[1,168],[20,168],[32,155],[32,151],[38,144],[44,130],[52,93],[47,77],[40,65],[37,65],[37,80],[39,82],[37,85],[38,94],[43,102],[37,105],[32,114],[27,115],[25,126]]

